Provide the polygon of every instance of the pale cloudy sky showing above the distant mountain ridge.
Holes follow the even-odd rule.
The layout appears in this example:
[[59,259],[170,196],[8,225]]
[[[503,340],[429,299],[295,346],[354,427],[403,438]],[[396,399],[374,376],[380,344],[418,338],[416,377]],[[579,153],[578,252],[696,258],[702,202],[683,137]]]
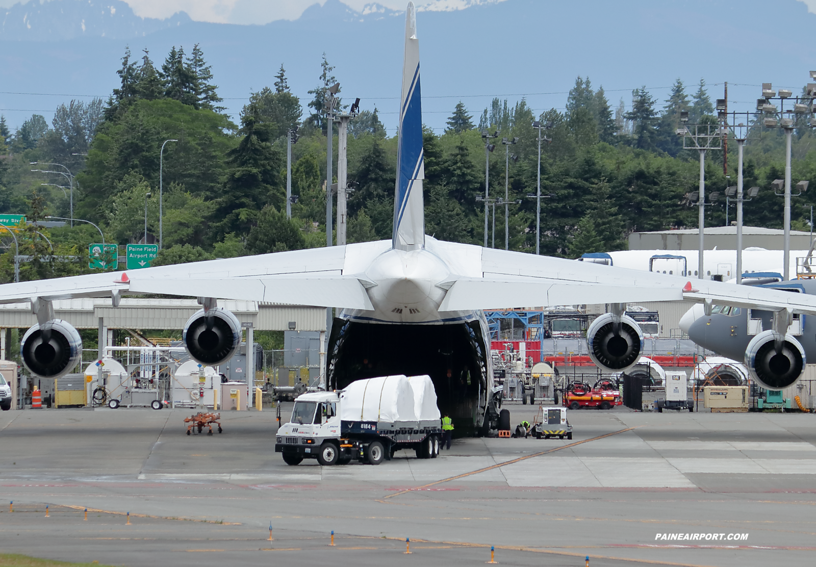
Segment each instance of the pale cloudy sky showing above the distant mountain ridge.
[[[31,0],[38,2],[38,0]],[[370,0],[340,0],[357,11],[364,11]],[[0,7],[10,7],[20,0],[0,0]],[[267,24],[273,20],[297,20],[304,10],[326,0],[125,0],[137,16],[166,18],[185,11],[193,20],[230,24]],[[473,4],[503,0],[414,0],[416,7],[427,10],[461,10]],[[816,0],[808,0],[816,5]],[[405,10],[408,0],[379,0],[392,10]]]

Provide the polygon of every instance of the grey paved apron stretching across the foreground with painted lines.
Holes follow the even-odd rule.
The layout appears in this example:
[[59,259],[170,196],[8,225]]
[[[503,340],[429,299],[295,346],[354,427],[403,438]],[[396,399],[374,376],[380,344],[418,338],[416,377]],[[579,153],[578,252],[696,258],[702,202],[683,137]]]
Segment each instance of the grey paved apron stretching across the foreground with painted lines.
[[[508,407],[512,423],[534,414]],[[816,551],[813,414],[579,410],[572,441],[289,467],[274,410],[224,412],[213,436],[185,435],[191,413],[0,413],[0,549],[128,567],[483,565],[491,545],[502,565],[805,565]]]

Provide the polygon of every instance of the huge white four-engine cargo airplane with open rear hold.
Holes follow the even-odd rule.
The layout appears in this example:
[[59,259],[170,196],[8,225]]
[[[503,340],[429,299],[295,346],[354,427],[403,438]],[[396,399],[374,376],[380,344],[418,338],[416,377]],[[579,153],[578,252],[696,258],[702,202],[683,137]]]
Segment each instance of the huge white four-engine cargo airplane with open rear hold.
[[765,308],[777,312],[773,335],[760,335],[774,349],[769,371],[800,368],[804,357],[799,361],[788,346],[795,339],[788,338],[786,323],[793,313],[816,315],[816,297],[426,236],[419,78],[416,14],[409,3],[390,240],[2,285],[0,302],[30,302],[38,317],[21,343],[26,367],[59,377],[78,362],[79,334],[69,321],[55,319],[53,300],[109,297],[117,306],[123,295],[165,294],[197,297],[202,304],[183,342],[204,365],[227,361],[240,343],[241,326],[218,299],[338,308],[326,388],[388,374],[428,374],[440,410],[460,433],[497,427],[501,388],[494,383],[484,309],[608,303],[610,312],[588,329],[588,345],[597,365],[618,371],[634,365],[643,347],[640,328],[624,314],[628,302],[685,299],[703,302],[706,310],[715,304]]

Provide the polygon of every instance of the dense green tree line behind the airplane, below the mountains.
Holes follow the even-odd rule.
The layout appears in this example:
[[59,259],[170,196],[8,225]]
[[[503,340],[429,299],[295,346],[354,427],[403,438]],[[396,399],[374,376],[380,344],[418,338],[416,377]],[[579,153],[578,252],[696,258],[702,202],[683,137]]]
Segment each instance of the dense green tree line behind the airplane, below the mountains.
[[[12,133],[0,117],[5,156],[0,213],[25,213],[29,219],[67,216],[65,176],[30,171],[30,162],[59,163],[74,175],[70,184],[77,218],[100,225],[106,241],[155,241],[162,162],[163,250],[157,264],[325,246],[324,109],[328,87],[337,82],[325,54],[305,106],[290,91],[281,65],[271,86],[250,93],[234,122],[220,106],[211,67],[197,45],[189,55],[184,47],[173,47],[158,67],[148,51],[134,59],[126,50],[116,73],[120,84],[108,100],[62,104],[51,125],[35,114]],[[424,130],[428,234],[481,244],[485,207],[477,197],[484,195],[487,167],[491,197],[504,196],[506,173],[510,200],[521,201],[510,206],[509,248],[534,252],[535,199],[529,197],[539,173],[534,121],[546,125],[547,139],[540,166],[543,254],[574,258],[623,249],[635,231],[694,228],[697,209],[685,195],[698,185],[698,154],[684,149],[676,135],[681,112],[690,113],[692,123],[716,123],[705,82],[689,95],[678,79],[663,101],[641,87],[632,91],[628,104],[623,99],[612,104],[602,86],[579,77],[563,111],[540,112],[526,100],[494,99],[477,119],[459,102],[444,131]],[[297,202],[286,219],[286,133],[295,126],[299,140],[293,146],[292,193]],[[765,189],[745,206],[746,224],[779,228],[781,197],[768,188],[783,176],[783,135],[761,122],[753,127],[757,140],[746,144],[745,183]],[[486,152],[482,131],[498,134],[490,140],[494,152]],[[795,180],[816,179],[813,137],[805,125],[796,130]],[[517,138],[517,144],[501,144],[503,138]],[[177,141],[167,143],[160,156],[166,140]],[[729,144],[730,164],[736,162],[735,149]],[[386,131],[376,108],[363,110],[349,126],[348,241],[391,237],[396,160],[396,132]],[[726,179],[722,152],[710,152],[707,188],[722,192],[735,184],[733,167],[729,175]],[[812,193],[795,200],[795,228],[807,228],[813,202]],[[496,212],[495,241],[503,247],[503,210]],[[488,214],[492,221],[492,211]],[[725,202],[707,207],[709,225],[725,224],[726,215],[729,222],[734,219],[733,203],[728,209]],[[78,224],[40,232],[50,238],[55,255],[73,261],[26,265],[24,279],[89,271],[86,246],[95,239],[93,228]],[[37,234],[26,238],[30,243],[24,246],[40,250]],[[0,257],[3,281],[13,277],[11,264],[11,254]]]

